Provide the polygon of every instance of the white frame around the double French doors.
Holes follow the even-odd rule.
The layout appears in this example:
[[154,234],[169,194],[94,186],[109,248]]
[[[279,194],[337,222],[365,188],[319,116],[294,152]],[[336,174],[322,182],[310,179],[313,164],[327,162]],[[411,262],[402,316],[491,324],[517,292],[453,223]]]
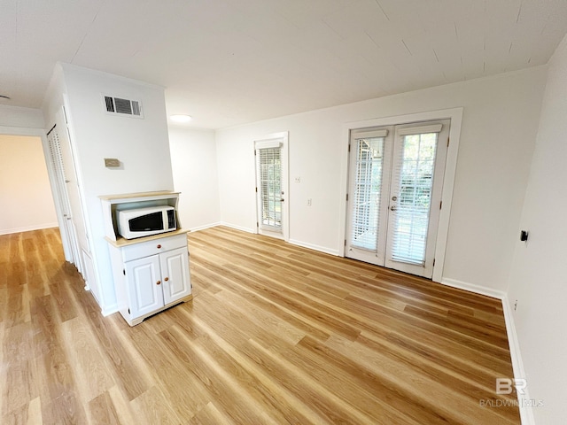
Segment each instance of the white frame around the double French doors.
[[376,118],[371,120],[361,120],[347,122],[343,125],[343,135],[341,143],[341,191],[342,194],[339,205],[339,226],[338,226],[338,255],[345,257],[346,241],[346,195],[348,193],[348,143],[350,141],[351,130],[361,128],[375,128],[385,126],[395,126],[408,124],[417,121],[432,120],[451,120],[449,129],[449,147],[447,149],[447,160],[445,166],[445,179],[441,201],[443,208],[439,213],[439,227],[437,229],[437,243],[435,247],[435,265],[433,266],[433,282],[441,282],[443,278],[443,267],[445,265],[445,254],[447,250],[447,236],[449,232],[449,218],[451,215],[451,205],[453,202],[454,176],[457,166],[457,155],[459,151],[459,139],[462,127],[463,108],[443,109],[431,112],[417,112],[392,117]]

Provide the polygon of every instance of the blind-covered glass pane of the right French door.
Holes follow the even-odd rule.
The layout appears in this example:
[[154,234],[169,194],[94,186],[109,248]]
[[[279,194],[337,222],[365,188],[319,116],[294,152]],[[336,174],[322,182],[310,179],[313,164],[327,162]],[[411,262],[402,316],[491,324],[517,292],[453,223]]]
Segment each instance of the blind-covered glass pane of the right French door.
[[392,194],[397,197],[392,225],[392,260],[423,265],[431,211],[431,189],[438,133],[405,135],[395,165]]

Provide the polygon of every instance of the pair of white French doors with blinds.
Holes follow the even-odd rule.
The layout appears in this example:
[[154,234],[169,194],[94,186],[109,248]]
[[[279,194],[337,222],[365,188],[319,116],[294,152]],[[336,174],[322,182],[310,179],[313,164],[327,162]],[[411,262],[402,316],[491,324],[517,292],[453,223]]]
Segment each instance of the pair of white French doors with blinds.
[[346,257],[431,278],[449,124],[351,132]]

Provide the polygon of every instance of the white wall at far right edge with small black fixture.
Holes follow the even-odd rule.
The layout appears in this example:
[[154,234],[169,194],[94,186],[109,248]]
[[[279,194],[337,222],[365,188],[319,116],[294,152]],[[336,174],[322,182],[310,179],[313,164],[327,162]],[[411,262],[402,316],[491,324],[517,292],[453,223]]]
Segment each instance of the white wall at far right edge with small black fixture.
[[[550,60],[540,129],[509,281],[509,304],[535,423],[564,423],[567,404],[567,37]],[[520,228],[529,230],[519,242]]]

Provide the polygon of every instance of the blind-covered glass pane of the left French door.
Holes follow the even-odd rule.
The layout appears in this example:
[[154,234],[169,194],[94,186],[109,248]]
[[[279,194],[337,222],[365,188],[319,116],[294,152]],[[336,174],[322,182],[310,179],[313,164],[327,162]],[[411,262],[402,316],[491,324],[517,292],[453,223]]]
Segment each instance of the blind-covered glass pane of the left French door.
[[377,251],[384,137],[356,139],[351,246]]

